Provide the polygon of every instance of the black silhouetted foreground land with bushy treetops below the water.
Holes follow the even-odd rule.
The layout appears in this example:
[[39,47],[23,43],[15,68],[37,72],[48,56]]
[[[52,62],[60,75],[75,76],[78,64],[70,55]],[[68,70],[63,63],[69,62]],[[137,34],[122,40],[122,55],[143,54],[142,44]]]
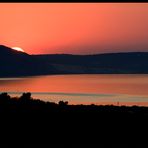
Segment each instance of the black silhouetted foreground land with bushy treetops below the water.
[[148,107],[58,104],[0,94],[0,143],[146,144]]

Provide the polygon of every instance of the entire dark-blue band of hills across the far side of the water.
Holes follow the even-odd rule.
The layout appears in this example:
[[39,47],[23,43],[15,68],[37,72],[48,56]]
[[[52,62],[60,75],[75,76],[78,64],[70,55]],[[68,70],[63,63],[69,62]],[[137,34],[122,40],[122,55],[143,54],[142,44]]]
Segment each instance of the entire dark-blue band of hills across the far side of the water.
[[148,53],[29,55],[0,46],[0,77],[47,74],[147,74]]

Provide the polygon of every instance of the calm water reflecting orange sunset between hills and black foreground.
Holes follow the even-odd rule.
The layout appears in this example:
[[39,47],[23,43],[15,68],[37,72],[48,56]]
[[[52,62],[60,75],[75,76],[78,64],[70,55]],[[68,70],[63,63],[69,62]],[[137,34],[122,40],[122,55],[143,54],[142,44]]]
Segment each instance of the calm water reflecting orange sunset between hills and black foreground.
[[148,106],[148,75],[49,75],[0,78],[0,92],[31,92],[44,101]]

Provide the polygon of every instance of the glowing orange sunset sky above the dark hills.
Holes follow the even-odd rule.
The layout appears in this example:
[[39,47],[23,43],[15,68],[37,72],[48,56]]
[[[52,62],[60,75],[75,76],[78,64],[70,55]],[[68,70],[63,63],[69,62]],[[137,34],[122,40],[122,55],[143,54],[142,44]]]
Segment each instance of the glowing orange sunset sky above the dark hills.
[[0,3],[0,44],[30,54],[148,51],[148,3]]

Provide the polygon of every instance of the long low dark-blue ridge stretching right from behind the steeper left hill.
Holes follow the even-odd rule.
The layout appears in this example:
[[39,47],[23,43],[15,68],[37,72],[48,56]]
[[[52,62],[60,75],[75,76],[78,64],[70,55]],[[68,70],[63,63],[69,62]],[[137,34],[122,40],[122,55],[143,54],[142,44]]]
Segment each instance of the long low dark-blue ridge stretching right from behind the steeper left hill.
[[140,74],[148,73],[148,53],[106,53],[96,55],[36,55],[54,65],[60,73]]

